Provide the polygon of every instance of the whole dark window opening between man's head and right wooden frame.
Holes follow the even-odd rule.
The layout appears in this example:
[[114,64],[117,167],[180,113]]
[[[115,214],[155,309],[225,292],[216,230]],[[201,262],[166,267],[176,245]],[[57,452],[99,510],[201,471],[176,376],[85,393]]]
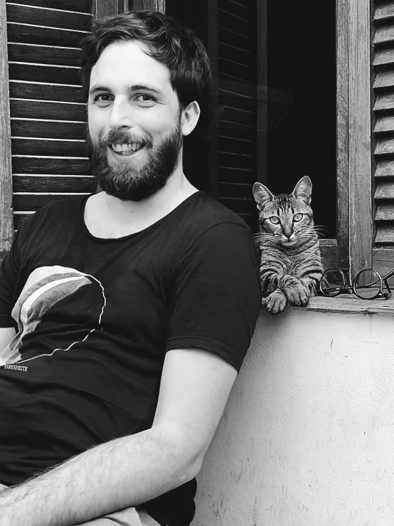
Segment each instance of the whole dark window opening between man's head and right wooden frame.
[[[253,230],[253,182],[265,182],[274,194],[289,193],[308,175],[314,222],[323,227],[324,238],[336,238],[335,2],[307,0],[302,8],[295,0],[213,4],[166,2],[167,13],[196,31],[207,47],[211,41],[209,51],[215,53],[218,130],[205,140],[186,141],[186,174]],[[257,5],[267,11],[267,86],[257,85],[262,53]],[[258,90],[267,94],[265,100],[257,101]],[[217,149],[217,157],[205,155],[209,147]],[[264,174],[258,173],[261,148],[266,149]]]

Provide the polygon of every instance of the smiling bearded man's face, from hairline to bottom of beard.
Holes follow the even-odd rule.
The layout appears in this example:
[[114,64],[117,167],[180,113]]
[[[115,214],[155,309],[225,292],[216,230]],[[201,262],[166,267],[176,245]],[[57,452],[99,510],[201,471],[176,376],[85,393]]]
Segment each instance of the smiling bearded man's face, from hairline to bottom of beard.
[[102,189],[141,201],[174,173],[181,112],[169,70],[137,41],[107,46],[92,68],[88,122],[93,170]]

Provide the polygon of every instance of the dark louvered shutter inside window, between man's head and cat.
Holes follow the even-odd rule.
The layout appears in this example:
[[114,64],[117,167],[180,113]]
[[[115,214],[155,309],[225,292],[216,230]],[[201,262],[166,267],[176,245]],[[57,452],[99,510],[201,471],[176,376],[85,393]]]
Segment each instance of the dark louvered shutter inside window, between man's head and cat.
[[218,0],[218,200],[255,226],[257,2]]

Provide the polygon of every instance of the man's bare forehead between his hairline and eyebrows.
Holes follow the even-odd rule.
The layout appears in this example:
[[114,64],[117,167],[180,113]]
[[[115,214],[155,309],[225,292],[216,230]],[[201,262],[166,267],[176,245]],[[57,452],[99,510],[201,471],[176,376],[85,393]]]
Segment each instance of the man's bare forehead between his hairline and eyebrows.
[[148,48],[138,41],[115,42],[102,51],[92,67],[90,87],[112,83],[129,88],[147,85],[159,91],[171,90],[169,69],[147,55]]

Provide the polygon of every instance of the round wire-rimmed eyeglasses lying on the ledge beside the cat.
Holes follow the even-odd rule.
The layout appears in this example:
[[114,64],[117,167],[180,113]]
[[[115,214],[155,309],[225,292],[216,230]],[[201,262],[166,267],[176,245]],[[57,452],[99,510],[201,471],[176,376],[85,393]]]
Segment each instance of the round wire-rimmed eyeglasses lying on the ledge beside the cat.
[[[361,300],[388,300],[391,289],[388,278],[394,275],[394,268],[382,276],[377,270],[364,268],[356,275],[353,281],[346,278],[341,268],[328,268],[324,271],[319,282],[319,292],[329,298],[339,294],[355,294]],[[386,290],[384,290],[384,288]]]

